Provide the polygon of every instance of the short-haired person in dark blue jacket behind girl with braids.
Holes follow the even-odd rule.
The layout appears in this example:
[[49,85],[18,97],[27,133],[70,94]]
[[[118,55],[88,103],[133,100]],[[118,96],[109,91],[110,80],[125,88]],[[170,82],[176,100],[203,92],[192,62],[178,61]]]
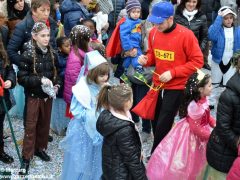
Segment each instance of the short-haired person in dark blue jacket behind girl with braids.
[[58,32],[58,26],[49,14],[49,0],[32,1],[30,12],[28,12],[27,16],[16,25],[13,35],[8,43],[7,52],[11,63],[19,65],[21,59],[20,54],[24,51],[24,43],[31,39],[32,27],[37,21],[46,22],[47,26],[50,27],[50,42],[52,47],[56,48],[55,38]]

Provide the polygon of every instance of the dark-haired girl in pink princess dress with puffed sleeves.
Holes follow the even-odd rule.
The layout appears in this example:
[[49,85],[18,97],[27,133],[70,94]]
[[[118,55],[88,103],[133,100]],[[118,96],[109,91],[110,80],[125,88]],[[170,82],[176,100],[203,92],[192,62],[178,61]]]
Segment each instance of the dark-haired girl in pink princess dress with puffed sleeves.
[[153,152],[147,164],[149,180],[195,180],[206,164],[206,144],[215,120],[207,96],[212,90],[209,75],[199,71],[186,84],[178,121]]

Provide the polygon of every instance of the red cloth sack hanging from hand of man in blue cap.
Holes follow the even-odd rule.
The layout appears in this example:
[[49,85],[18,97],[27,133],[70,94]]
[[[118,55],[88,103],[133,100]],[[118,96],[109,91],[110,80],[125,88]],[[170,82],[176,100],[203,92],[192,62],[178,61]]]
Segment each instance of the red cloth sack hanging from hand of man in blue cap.
[[132,112],[143,119],[154,120],[159,90],[151,89],[146,96],[132,109]]

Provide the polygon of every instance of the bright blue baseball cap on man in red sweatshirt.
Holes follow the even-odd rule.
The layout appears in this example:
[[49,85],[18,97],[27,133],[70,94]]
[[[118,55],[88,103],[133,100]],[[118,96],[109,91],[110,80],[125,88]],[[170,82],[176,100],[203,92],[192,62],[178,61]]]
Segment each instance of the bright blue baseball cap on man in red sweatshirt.
[[152,8],[147,20],[154,24],[161,24],[170,16],[174,15],[174,8],[170,2],[159,2]]

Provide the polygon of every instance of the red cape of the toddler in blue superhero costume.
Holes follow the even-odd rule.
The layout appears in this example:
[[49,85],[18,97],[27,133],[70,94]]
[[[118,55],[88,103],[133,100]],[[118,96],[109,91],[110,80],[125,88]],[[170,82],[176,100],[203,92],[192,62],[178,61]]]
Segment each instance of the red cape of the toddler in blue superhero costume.
[[120,28],[119,26],[126,21],[126,18],[120,19],[117,23],[106,47],[106,56],[115,57],[122,52],[121,40],[120,40]]

